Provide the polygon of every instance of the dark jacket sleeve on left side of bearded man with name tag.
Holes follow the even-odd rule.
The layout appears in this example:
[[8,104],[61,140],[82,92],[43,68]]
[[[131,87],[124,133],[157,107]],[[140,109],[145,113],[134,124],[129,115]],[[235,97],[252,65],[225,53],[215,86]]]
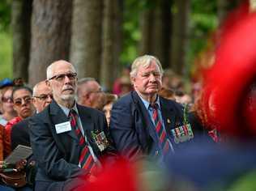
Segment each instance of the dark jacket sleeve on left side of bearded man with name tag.
[[86,176],[86,170],[66,162],[53,139],[50,128],[54,127],[44,123],[42,118],[32,117],[29,121],[31,146],[38,167],[46,176],[55,180]]

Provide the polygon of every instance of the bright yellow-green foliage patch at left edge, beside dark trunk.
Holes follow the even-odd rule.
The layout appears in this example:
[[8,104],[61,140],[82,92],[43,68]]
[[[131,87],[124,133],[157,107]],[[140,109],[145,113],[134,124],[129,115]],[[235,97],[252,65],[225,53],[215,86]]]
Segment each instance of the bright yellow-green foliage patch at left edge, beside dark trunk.
[[0,79],[12,78],[12,46],[10,33],[0,32]]

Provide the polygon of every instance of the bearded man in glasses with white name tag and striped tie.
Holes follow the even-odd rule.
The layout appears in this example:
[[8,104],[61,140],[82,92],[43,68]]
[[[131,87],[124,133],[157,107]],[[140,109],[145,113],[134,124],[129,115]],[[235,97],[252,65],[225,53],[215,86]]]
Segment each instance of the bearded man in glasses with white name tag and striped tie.
[[[38,163],[35,190],[78,189],[103,168],[102,157],[115,159],[102,112],[75,101],[77,74],[60,60],[48,66],[53,101],[30,120],[33,155]],[[105,140],[104,142],[98,142]],[[109,155],[107,155],[109,154]]]

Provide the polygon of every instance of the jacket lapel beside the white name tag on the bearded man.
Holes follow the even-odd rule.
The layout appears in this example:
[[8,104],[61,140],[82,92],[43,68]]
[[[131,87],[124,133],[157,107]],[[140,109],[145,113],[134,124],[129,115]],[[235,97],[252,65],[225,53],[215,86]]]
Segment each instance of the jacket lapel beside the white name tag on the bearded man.
[[[52,123],[54,125],[53,128],[55,132],[56,132],[55,125],[66,122],[66,121],[70,121],[69,117],[66,117],[65,113],[62,111],[62,108],[60,108],[60,106],[56,103],[55,100],[53,100],[52,103],[50,104],[50,115],[52,118]],[[74,129],[71,129],[70,131],[67,131],[62,134],[67,134],[71,138],[74,138],[76,141],[79,141],[77,135],[75,134]]]

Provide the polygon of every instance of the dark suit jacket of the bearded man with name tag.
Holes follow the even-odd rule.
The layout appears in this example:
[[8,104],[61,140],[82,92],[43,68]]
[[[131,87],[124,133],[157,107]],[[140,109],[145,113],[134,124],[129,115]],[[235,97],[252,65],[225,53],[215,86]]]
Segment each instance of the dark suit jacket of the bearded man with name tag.
[[[114,155],[114,148],[109,146],[100,152],[92,138],[92,130],[105,131],[107,122],[103,112],[77,104],[84,133],[98,159],[104,154]],[[55,125],[69,121],[62,108],[53,100],[44,111],[36,114],[29,121],[33,155],[38,163],[36,183],[66,181],[78,176],[86,176],[87,171],[79,168],[79,140],[75,130],[57,134]],[[105,134],[108,136],[107,132]],[[54,189],[54,188],[53,188]]]

